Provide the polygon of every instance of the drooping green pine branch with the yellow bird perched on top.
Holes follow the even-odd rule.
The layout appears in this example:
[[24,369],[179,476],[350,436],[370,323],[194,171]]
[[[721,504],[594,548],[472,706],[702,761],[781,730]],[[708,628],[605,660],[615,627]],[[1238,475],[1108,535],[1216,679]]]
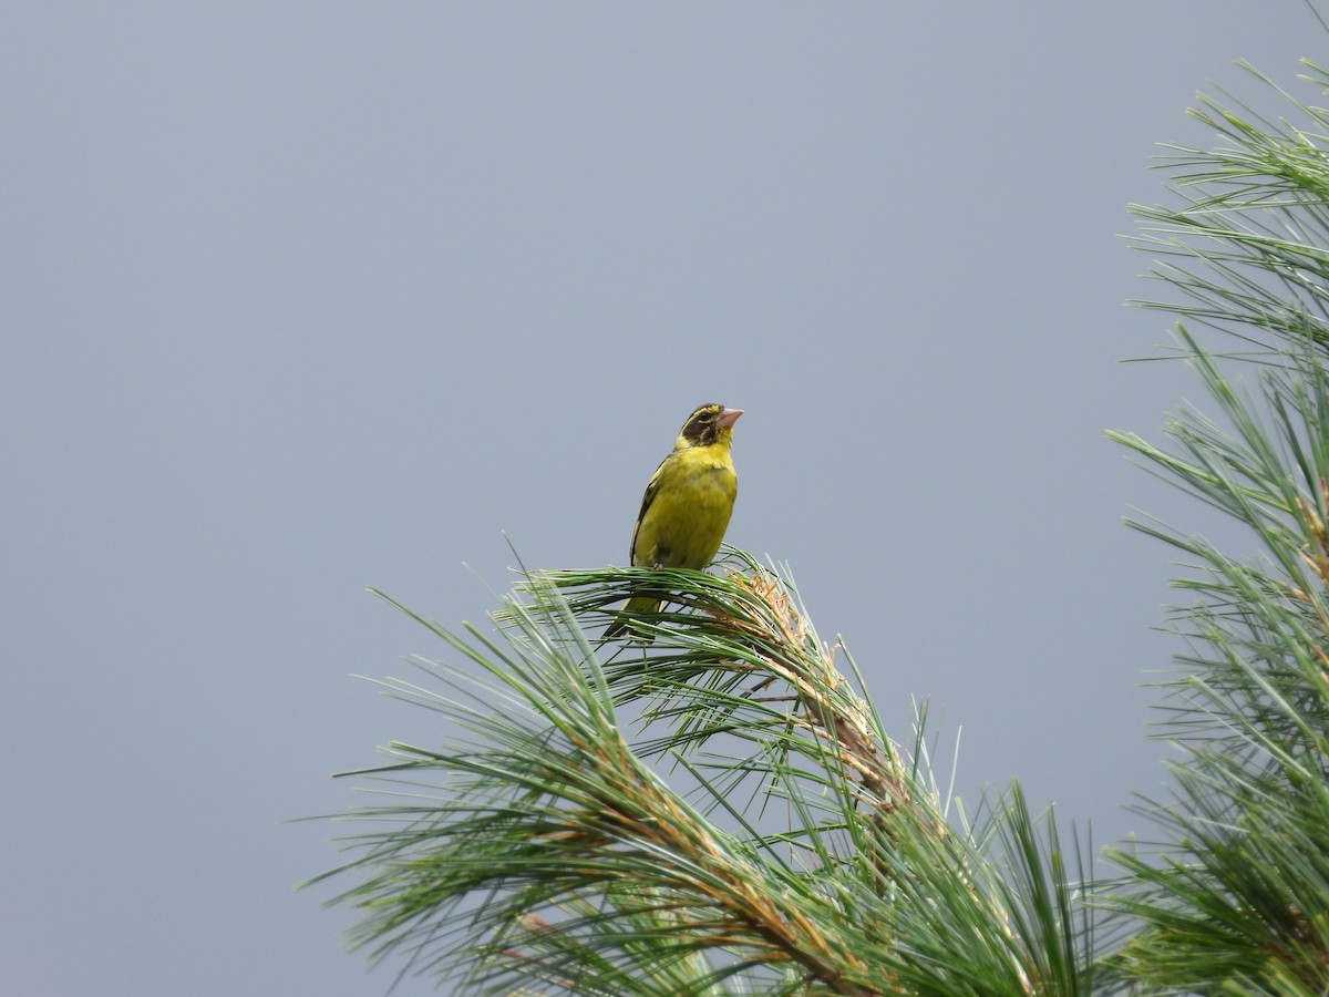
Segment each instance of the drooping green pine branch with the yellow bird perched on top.
[[[354,944],[482,993],[1086,992],[1055,832],[1018,790],[954,831],[792,588],[726,569],[526,573],[493,635],[416,617],[461,662],[384,685],[461,734],[352,774],[392,787],[320,877],[363,877]],[[642,589],[649,647],[586,635]]]

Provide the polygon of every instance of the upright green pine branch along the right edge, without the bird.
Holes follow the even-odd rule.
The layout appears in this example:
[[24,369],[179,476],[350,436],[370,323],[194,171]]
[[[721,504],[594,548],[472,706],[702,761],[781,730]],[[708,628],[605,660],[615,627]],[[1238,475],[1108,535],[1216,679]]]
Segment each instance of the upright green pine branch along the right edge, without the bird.
[[1183,206],[1138,209],[1180,298],[1148,307],[1243,352],[1179,326],[1216,413],[1181,411],[1164,447],[1111,436],[1255,549],[1132,524],[1192,560],[1175,585],[1195,601],[1170,613],[1187,651],[1160,683],[1172,794],[1139,807],[1160,840],[1112,851],[1126,876],[1100,897],[1132,928],[1108,962],[1123,988],[1329,992],[1329,112],[1292,105],[1308,124],[1205,100],[1224,145],[1174,149]]

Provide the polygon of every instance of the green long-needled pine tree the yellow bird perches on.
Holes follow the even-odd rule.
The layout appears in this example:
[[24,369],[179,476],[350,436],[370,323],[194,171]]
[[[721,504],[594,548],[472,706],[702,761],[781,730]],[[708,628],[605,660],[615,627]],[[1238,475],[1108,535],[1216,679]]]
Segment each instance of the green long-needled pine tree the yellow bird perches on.
[[[1205,100],[1220,145],[1171,148],[1177,203],[1135,209],[1212,411],[1111,436],[1255,550],[1134,524],[1193,566],[1174,791],[1120,875],[1018,783],[952,812],[925,717],[892,740],[788,572],[727,549],[529,572],[488,629],[415,617],[447,657],[385,685],[451,734],[354,774],[385,795],[319,877],[356,880],[352,942],[465,993],[1329,993],[1329,112],[1284,98],[1302,124]],[[639,590],[671,593],[654,639],[594,637]]]

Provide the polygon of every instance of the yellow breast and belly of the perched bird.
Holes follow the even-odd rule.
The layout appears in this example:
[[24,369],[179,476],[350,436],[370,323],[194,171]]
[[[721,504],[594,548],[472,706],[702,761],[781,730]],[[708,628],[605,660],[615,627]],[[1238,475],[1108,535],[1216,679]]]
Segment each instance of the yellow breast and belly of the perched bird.
[[633,538],[641,568],[706,568],[720,549],[739,480],[728,440],[675,451],[651,479],[655,495]]

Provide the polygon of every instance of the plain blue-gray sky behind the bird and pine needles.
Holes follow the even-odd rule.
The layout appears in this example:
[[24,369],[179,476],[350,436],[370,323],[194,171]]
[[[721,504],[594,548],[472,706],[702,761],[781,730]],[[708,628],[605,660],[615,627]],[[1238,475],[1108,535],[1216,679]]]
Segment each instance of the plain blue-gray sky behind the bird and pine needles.
[[364,586],[623,564],[710,400],[730,540],[898,739],[930,697],[970,803],[1144,830],[1120,517],[1203,520],[1102,437],[1197,393],[1116,363],[1167,338],[1124,205],[1196,89],[1324,47],[1297,0],[7,5],[0,990],[383,993],[278,823],[436,739],[350,678],[441,653]]

